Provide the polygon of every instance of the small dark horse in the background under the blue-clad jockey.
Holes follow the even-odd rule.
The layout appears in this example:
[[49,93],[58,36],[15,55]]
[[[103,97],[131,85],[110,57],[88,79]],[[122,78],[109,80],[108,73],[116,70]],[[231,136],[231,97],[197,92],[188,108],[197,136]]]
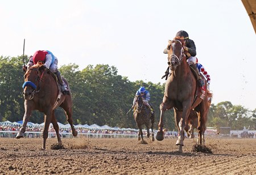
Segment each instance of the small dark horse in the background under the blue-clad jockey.
[[[143,132],[142,132],[142,125],[145,125],[147,127],[147,138],[150,137],[150,128],[152,131],[152,141],[154,142],[154,132],[153,132],[153,127],[154,127],[154,116],[151,117],[151,110],[148,108],[143,103],[142,96],[137,95],[136,96],[136,103],[135,103],[135,112],[133,114],[133,117],[137,123],[137,126],[139,128],[139,133],[138,133],[138,140],[143,140]],[[151,122],[150,122],[151,121]]]

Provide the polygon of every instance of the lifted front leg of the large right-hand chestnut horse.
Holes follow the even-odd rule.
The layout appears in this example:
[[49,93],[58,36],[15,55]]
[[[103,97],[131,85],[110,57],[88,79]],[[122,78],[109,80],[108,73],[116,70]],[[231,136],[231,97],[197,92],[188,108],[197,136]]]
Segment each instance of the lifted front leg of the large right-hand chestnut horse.
[[160,119],[158,123],[158,133],[156,133],[156,140],[162,141],[164,139],[164,134],[163,134],[163,117],[164,117],[164,112],[166,110],[171,109],[172,106],[174,106],[171,101],[167,98],[167,96],[163,97],[163,103],[160,104]]

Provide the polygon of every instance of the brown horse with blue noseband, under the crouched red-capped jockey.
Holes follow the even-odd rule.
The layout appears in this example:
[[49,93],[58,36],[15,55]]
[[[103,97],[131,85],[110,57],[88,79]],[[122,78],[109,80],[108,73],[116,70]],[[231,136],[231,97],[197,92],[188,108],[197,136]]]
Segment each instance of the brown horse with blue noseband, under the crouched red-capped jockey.
[[[44,113],[44,130],[43,130],[43,150],[46,149],[46,139],[48,138],[49,124],[52,123],[56,131],[58,144],[61,143],[59,134],[59,125],[57,124],[54,110],[60,106],[65,110],[67,121],[71,125],[73,136],[77,135],[77,131],[73,126],[72,119],[72,96],[61,95],[60,87],[57,83],[55,75],[51,71],[40,68],[42,62],[28,69],[24,75],[23,96],[25,113],[23,116],[23,125],[20,128],[16,138],[22,138],[26,131],[28,119],[30,118],[33,110],[39,110]],[[63,79],[67,84],[67,80]],[[68,86],[69,88],[69,86]]]

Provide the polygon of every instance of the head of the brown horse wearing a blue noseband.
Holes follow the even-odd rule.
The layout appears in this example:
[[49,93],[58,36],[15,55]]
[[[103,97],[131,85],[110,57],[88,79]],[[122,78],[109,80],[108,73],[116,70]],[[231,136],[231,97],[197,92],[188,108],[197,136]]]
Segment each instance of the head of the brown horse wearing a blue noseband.
[[42,62],[38,62],[36,65],[30,67],[24,75],[23,83],[23,96],[25,100],[31,100],[34,98],[34,94],[40,91],[40,80],[44,70],[40,69],[43,66]]

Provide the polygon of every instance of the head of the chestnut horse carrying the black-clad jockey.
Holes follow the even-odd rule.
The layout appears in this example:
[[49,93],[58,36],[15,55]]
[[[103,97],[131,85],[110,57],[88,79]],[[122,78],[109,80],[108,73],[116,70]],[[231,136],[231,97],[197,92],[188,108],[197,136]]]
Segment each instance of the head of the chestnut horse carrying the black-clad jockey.
[[184,44],[184,40],[178,39],[170,40],[168,42],[168,65],[173,71],[175,71],[176,67],[181,64],[181,61],[184,57]]

